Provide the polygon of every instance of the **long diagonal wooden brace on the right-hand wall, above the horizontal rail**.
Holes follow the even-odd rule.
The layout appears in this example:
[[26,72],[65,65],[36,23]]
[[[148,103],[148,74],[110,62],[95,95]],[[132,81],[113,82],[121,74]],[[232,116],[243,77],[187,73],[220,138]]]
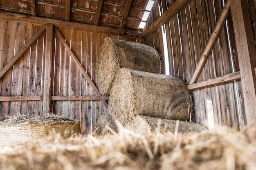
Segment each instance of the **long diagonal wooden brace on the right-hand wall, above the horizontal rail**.
[[229,0],[227,0],[225,7],[223,7],[220,18],[219,18],[219,20],[211,34],[211,37],[210,37],[209,41],[207,42],[207,45],[201,55],[201,58],[198,62],[198,66],[195,68],[195,71],[193,73],[193,76],[191,77],[189,84],[193,84],[194,82],[196,82],[198,77],[200,76],[200,73],[202,73],[202,69],[204,68],[205,63],[207,62],[207,59],[211,53],[211,49],[213,48],[213,46],[218,38],[218,35],[222,29],[222,26],[225,23],[227,15],[229,15],[229,10],[230,10],[230,3],[229,3]]

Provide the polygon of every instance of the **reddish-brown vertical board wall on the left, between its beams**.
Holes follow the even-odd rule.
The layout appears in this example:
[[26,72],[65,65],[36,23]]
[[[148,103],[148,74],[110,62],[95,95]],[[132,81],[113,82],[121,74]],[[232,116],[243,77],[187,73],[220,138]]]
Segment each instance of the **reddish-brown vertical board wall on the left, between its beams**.
[[[0,20],[0,70],[40,29],[37,24]],[[96,84],[99,49],[106,37],[136,41],[135,37],[58,28],[79,62]],[[10,115],[42,115],[44,69],[52,67],[52,96],[95,96],[69,53],[54,33],[52,66],[45,65],[44,32],[0,79],[0,121]],[[16,96],[16,98],[8,98]],[[20,100],[18,97],[24,97]],[[1,98],[2,97],[2,98]],[[15,101],[14,101],[15,100]],[[94,130],[97,118],[107,109],[99,100],[53,100],[52,113],[80,120],[82,131]]]

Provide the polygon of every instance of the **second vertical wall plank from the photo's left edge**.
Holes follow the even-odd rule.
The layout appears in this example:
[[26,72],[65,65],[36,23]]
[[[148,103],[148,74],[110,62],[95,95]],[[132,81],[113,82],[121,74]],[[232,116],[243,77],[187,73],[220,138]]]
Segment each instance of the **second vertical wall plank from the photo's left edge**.
[[[5,53],[4,53],[4,65],[7,64],[14,56],[15,37],[16,37],[16,22],[7,23],[7,33],[5,41]],[[11,83],[12,83],[12,69],[9,69],[7,73],[2,77],[2,91],[1,96],[11,95]],[[2,102],[1,115],[15,115],[16,113],[10,113],[10,102]]]

